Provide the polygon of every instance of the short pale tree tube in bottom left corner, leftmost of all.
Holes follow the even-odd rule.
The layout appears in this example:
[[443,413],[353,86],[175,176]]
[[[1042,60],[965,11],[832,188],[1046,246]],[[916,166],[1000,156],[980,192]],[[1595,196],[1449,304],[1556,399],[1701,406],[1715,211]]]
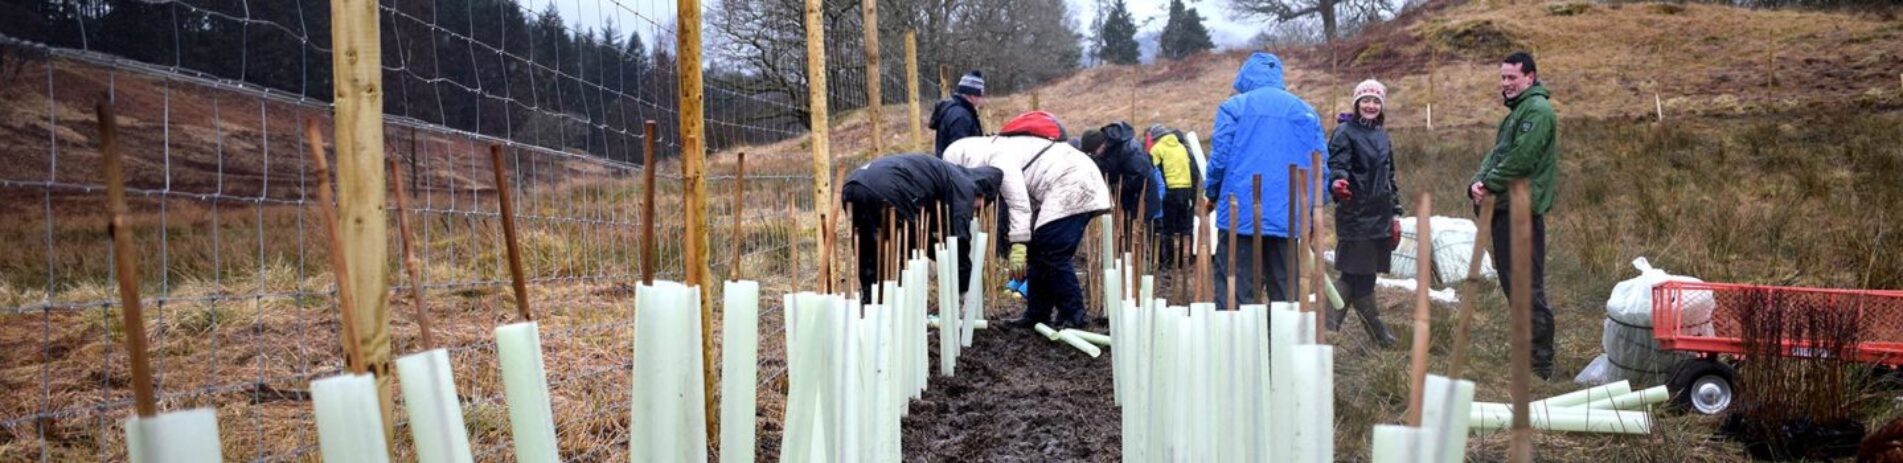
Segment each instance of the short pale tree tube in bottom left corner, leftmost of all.
[[[383,434],[383,423],[377,425]],[[320,436],[322,438],[322,436]],[[377,442],[383,446],[383,442]],[[126,457],[131,463],[225,461],[219,413],[211,408],[126,419]]]

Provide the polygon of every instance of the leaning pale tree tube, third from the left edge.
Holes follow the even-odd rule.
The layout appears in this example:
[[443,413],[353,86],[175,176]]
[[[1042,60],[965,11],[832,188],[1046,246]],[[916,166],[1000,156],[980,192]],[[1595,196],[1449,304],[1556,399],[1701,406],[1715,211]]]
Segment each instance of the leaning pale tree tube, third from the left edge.
[[468,463],[470,434],[462,427],[462,402],[449,372],[449,351],[430,349],[396,358],[398,385],[409,410],[409,438],[421,463]]

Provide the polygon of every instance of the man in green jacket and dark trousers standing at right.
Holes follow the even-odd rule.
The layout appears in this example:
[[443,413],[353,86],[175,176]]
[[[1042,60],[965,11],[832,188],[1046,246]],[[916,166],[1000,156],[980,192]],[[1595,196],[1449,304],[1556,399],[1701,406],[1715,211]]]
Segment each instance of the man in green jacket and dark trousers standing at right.
[[[1555,177],[1559,175],[1559,124],[1553,116],[1551,93],[1540,84],[1534,55],[1519,51],[1500,63],[1500,95],[1505,97],[1507,118],[1500,122],[1494,151],[1473,173],[1467,196],[1475,204],[1492,194],[1505,194],[1517,179],[1532,181],[1534,211],[1534,373],[1553,377],[1553,309],[1545,297],[1545,213],[1553,210]],[[1500,290],[1513,288],[1511,255],[1513,229],[1507,200],[1494,200],[1494,269],[1500,269]],[[1511,297],[1511,295],[1509,295]]]

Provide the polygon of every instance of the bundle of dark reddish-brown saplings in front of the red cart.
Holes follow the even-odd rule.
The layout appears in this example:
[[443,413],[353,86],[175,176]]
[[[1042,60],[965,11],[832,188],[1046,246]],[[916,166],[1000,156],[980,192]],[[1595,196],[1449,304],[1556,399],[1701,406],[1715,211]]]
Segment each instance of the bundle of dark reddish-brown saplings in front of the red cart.
[[1829,459],[1855,452],[1863,423],[1852,364],[1865,295],[1777,290],[1720,292],[1751,368],[1737,372],[1739,404],[1724,429],[1768,459]]

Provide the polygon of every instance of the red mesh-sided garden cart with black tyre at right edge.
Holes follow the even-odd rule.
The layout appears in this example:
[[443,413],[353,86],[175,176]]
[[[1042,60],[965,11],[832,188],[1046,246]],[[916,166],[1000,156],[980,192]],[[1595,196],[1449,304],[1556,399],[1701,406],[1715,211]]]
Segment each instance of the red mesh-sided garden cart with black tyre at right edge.
[[1903,292],[1665,282],[1652,288],[1652,337],[1663,351],[1694,354],[1665,383],[1675,406],[1705,415],[1732,406],[1734,364],[1753,352],[1743,339],[1745,320],[1753,316],[1747,311],[1762,311],[1766,301],[1793,311],[1859,311],[1852,318],[1857,328],[1850,345],[1795,335],[1774,349],[1779,356],[1834,354],[1846,362],[1903,366]]

